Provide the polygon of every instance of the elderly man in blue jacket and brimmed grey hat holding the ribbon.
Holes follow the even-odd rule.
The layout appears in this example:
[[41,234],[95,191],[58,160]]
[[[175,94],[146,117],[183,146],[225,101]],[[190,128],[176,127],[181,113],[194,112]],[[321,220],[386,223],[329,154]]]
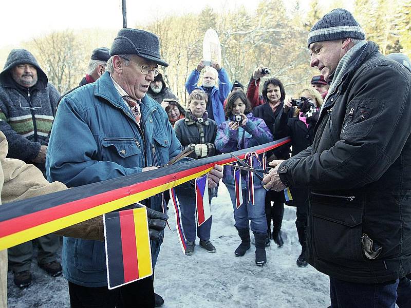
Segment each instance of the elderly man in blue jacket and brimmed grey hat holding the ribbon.
[[[168,66],[155,34],[119,31],[106,72],[59,105],[47,154],[49,180],[80,186],[153,170],[180,153],[166,112],[146,95],[158,65]],[[218,165],[211,170],[210,187],[222,178],[221,171]],[[161,211],[161,194],[144,203]],[[153,264],[162,241],[163,233],[151,240]],[[64,237],[62,259],[71,307],[154,307],[152,277],[108,290],[103,242]]]

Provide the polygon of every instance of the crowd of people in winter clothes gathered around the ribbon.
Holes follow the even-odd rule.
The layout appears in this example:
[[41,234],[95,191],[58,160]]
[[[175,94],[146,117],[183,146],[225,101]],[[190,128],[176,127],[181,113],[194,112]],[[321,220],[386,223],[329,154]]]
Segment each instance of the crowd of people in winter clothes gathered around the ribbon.
[[[8,142],[8,158],[43,172],[30,185],[47,186],[46,179],[61,182],[39,191],[41,195],[153,171],[186,148],[193,151],[181,162],[289,136],[290,143],[264,157],[248,154],[251,165],[263,168],[266,160],[272,167],[263,181],[233,166],[215,165],[208,175],[210,204],[220,179],[229,191],[240,238],[233,255],[244,256],[251,248],[251,228],[255,264],[265,265],[271,240],[284,245],[284,204],[296,206],[302,247],[296,265],[310,263],[330,276],[331,307],[383,303],[391,308],[396,302],[407,307],[411,63],[404,54],[381,55],[343,9],[313,26],[308,48],[310,64],[321,74],[291,95],[264,65],[252,72],[245,90],[239,81],[231,83],[221,63],[205,66],[201,60],[185,83],[186,102],[178,100],[159,73],[158,65],[168,64],[161,59],[158,37],[150,32],[120,30],[110,49],[92,51],[79,87],[62,97],[29,51],[13,49],[0,73],[0,130],[5,136],[0,145]],[[291,199],[286,200],[284,189]],[[215,253],[213,217],[201,226],[196,223],[194,186],[179,185],[176,194],[185,255],[194,255],[196,237],[201,248]],[[169,199],[158,194],[142,203],[153,219],[166,220],[160,212]],[[108,290],[102,221],[96,219],[85,222],[86,227],[36,239],[39,266],[52,276],[64,274],[71,307],[161,306],[154,275]],[[58,234],[64,235],[63,266],[55,257]],[[151,237],[153,267],[162,240],[161,230]],[[32,252],[32,242],[8,249],[14,283],[22,288],[32,282]],[[0,274],[4,283],[1,268]]]

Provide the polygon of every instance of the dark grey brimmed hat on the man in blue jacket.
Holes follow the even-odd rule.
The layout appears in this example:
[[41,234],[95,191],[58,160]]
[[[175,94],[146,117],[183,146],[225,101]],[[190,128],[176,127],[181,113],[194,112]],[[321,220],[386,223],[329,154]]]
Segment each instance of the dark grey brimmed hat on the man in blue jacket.
[[137,54],[162,66],[169,66],[160,55],[160,41],[151,32],[139,29],[123,28],[111,45],[110,55]]

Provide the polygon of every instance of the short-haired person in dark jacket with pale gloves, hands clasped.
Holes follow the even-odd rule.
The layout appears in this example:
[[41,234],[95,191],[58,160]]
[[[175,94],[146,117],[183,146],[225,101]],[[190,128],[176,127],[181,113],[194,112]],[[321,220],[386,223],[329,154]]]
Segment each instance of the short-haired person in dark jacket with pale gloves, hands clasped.
[[[183,149],[191,148],[194,151],[191,157],[200,159],[216,155],[214,140],[217,132],[217,123],[208,118],[206,111],[207,94],[201,89],[196,89],[189,96],[189,109],[185,112],[185,118],[174,124],[174,130]],[[210,229],[212,217],[196,228],[196,200],[194,189],[176,188],[176,194],[181,207],[181,223],[187,242],[185,254],[191,256],[194,253],[196,229],[200,238],[200,247],[209,253],[215,253],[216,249],[210,242]],[[215,191],[209,189],[209,198],[215,195]]]

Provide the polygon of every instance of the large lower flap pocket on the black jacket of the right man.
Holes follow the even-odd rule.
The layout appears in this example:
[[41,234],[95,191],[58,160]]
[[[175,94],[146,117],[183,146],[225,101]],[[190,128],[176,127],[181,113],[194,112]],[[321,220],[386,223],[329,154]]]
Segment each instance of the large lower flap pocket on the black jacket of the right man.
[[364,261],[361,247],[362,205],[354,196],[310,196],[312,241],[317,258],[351,267]]

